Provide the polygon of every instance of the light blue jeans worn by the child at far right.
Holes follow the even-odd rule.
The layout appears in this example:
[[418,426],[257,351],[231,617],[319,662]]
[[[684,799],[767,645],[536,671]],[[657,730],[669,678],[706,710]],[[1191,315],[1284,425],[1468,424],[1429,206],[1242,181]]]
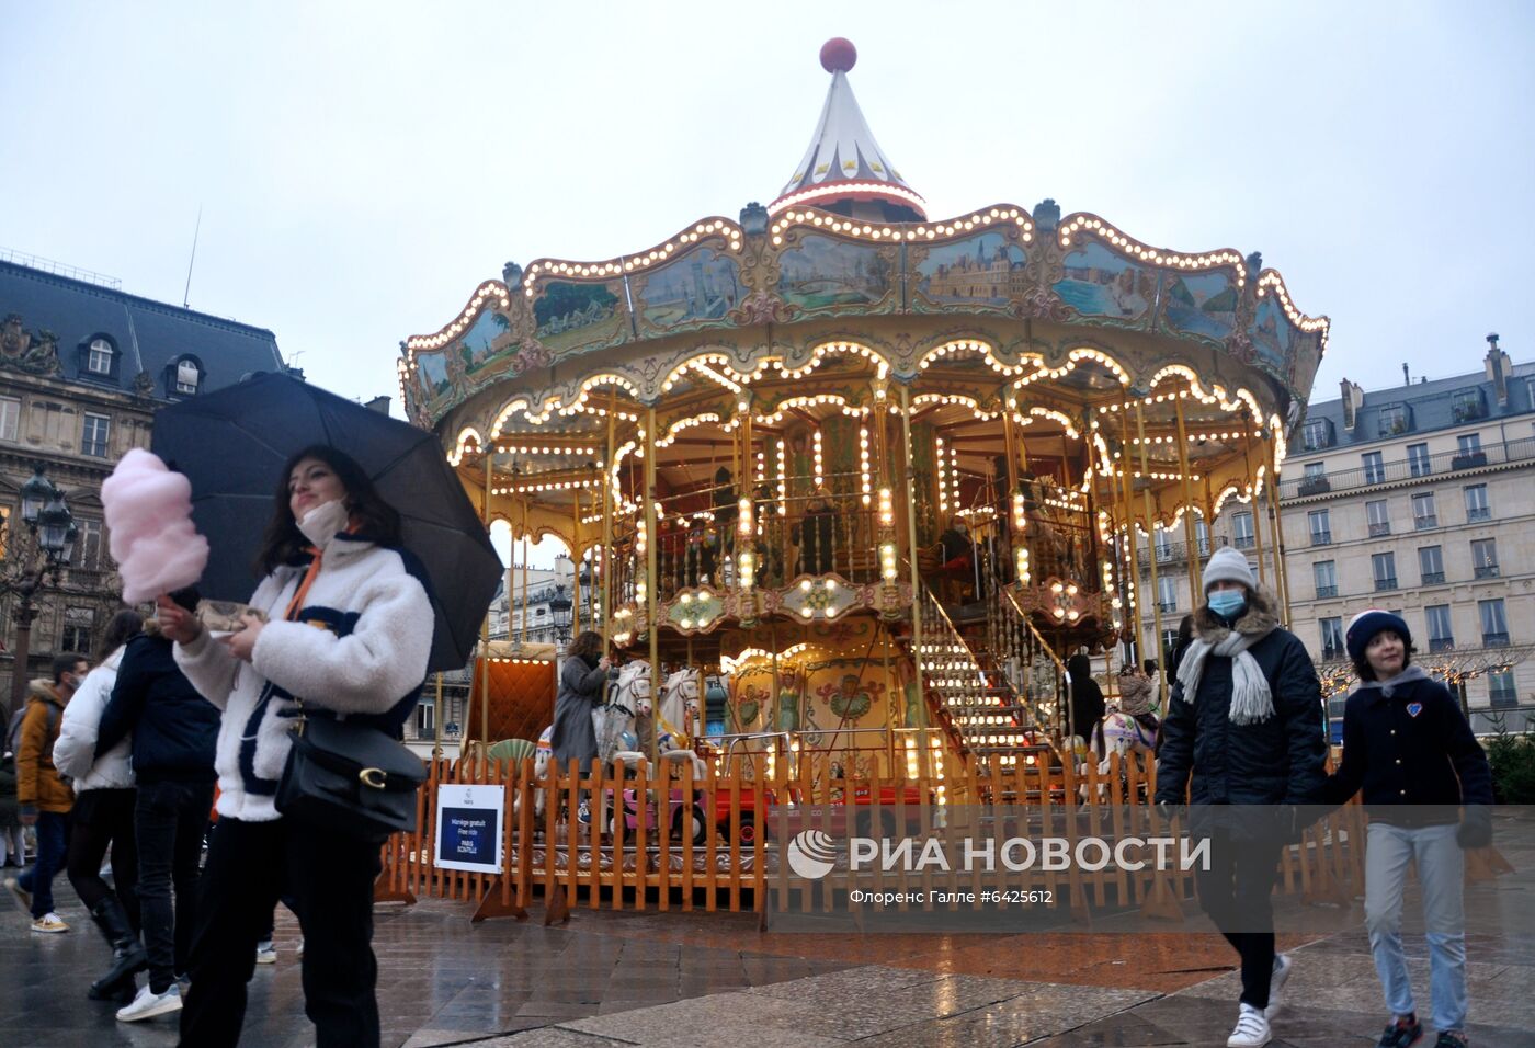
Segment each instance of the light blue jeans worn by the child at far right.
[[1417,1011],[1401,951],[1401,893],[1408,862],[1417,861],[1423,888],[1423,927],[1429,941],[1429,997],[1435,1030],[1466,1028],[1466,915],[1461,881],[1466,861],[1455,826],[1369,824],[1365,855],[1365,927],[1375,971],[1392,1014]]

